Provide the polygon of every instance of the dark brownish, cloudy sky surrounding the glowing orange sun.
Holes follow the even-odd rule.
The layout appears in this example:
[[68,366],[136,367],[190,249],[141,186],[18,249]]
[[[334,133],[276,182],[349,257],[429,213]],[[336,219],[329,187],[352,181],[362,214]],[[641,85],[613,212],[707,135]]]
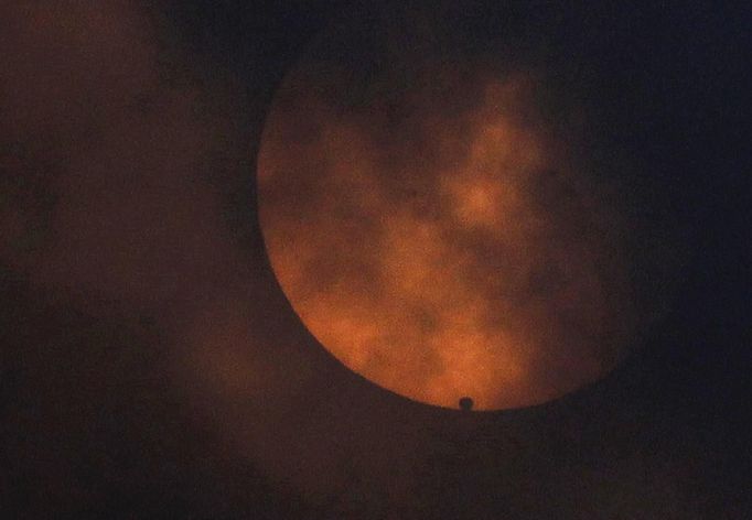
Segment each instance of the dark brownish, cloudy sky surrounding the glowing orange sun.
[[471,46],[569,64],[595,149],[686,237],[640,353],[469,414],[318,346],[256,220],[276,87],[374,2],[4,2],[2,517],[749,517],[750,13],[653,3],[437,3]]

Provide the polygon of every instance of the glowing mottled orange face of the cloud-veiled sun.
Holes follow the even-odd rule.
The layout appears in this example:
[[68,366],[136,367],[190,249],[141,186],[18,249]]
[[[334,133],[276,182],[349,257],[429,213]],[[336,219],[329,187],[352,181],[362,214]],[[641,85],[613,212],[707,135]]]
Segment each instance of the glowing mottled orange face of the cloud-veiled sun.
[[540,77],[458,68],[350,106],[345,74],[291,74],[262,139],[260,224],[293,308],[352,370],[442,407],[540,403],[620,357],[625,230],[576,137],[540,115]]

